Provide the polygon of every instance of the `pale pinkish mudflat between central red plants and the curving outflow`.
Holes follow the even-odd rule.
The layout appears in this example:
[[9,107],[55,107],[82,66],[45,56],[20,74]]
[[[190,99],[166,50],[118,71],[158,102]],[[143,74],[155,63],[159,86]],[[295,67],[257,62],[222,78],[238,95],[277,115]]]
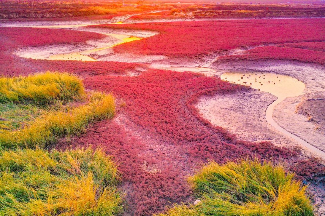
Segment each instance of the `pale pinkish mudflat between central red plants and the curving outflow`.
[[270,141],[280,146],[294,146],[297,142],[268,126],[265,110],[276,100],[272,94],[248,90],[233,94],[202,97],[196,108],[215,126],[221,126],[243,140]]

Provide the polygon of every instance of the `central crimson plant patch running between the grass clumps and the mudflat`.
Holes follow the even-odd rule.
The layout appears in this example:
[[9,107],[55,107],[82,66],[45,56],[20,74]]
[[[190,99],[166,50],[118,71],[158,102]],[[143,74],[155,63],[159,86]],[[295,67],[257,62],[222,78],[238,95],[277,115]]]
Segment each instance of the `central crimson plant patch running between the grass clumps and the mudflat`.
[[[186,178],[198,163],[207,160],[224,163],[244,156],[272,156],[295,161],[297,167],[308,162],[306,168],[312,167],[302,170],[304,177],[324,172],[321,165],[313,169],[317,162],[299,160],[297,151],[268,142],[237,140],[205,121],[193,106],[202,95],[231,94],[247,87],[201,74],[163,70],[149,70],[137,77],[93,76],[84,82],[86,88],[111,91],[126,107],[114,120],[100,122],[59,147],[92,144],[112,154],[123,174],[121,189],[127,193],[126,211],[131,215],[152,215],[170,202],[186,202],[190,195]],[[144,162],[157,164],[159,172],[147,172]]]

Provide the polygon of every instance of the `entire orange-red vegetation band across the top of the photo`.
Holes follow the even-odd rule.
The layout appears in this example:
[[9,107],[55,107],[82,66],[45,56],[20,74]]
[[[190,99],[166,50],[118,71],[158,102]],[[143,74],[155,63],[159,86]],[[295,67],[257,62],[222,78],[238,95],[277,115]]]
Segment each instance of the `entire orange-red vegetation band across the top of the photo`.
[[[0,18],[72,18],[110,19],[114,16],[137,14],[132,18],[272,18],[322,17],[321,4],[180,4],[175,2],[105,2],[105,1],[0,1]],[[94,17],[90,17],[94,16]],[[100,17],[98,17],[100,16]]]

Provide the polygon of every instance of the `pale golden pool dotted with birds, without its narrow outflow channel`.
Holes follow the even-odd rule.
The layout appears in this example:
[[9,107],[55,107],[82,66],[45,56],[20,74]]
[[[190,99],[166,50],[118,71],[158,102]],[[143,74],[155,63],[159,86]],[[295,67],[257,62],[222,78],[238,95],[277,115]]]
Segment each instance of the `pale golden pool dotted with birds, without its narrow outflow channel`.
[[301,95],[305,84],[289,76],[264,72],[226,72],[221,79],[273,94],[279,99]]

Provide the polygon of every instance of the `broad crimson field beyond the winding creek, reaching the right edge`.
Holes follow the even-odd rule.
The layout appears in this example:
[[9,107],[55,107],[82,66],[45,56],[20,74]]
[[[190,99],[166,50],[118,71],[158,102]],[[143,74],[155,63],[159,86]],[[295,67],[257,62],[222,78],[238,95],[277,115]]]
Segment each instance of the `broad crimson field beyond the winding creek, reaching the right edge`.
[[100,25],[97,28],[154,30],[149,38],[114,47],[118,53],[195,57],[239,47],[325,40],[325,19],[246,19]]

